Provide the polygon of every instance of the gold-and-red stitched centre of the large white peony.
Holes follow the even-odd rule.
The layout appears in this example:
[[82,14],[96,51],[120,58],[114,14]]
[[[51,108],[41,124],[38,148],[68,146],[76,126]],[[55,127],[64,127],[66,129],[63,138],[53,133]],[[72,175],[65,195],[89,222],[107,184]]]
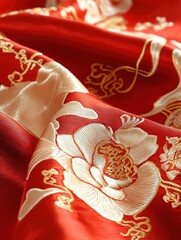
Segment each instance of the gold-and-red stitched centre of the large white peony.
[[137,168],[129,156],[129,149],[121,144],[109,142],[98,148],[106,160],[104,174],[115,180],[136,179]]

